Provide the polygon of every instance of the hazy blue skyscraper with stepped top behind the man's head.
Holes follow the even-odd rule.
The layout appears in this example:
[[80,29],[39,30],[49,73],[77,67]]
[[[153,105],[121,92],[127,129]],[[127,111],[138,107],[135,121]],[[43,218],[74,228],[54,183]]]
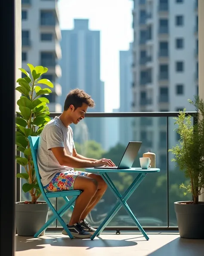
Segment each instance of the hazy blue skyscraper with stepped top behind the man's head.
[[[61,104],[73,88],[80,88],[94,99],[89,112],[104,112],[104,82],[100,80],[100,32],[89,29],[88,19],[74,19],[74,28],[62,30]],[[89,139],[103,145],[102,118],[86,118]],[[79,141],[81,139],[79,138]]]

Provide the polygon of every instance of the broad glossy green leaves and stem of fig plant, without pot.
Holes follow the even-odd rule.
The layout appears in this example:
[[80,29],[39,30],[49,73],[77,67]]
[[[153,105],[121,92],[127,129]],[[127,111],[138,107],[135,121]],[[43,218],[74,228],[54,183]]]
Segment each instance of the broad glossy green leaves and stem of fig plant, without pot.
[[40,85],[47,85],[51,88],[54,85],[48,79],[40,79],[40,76],[46,73],[48,68],[34,67],[29,63],[27,65],[30,74],[20,68],[19,70],[25,74],[25,77],[17,80],[19,86],[15,88],[22,93],[17,101],[19,111],[16,111],[17,117],[15,119],[15,144],[17,151],[21,152],[20,156],[16,155],[16,162],[25,168],[24,173],[17,174],[18,178],[25,180],[22,190],[31,194],[30,203],[35,204],[41,192],[35,175],[28,136],[39,136],[46,123],[50,121],[49,107],[47,106],[49,100],[45,95],[49,95],[52,91],[50,88],[41,88]]

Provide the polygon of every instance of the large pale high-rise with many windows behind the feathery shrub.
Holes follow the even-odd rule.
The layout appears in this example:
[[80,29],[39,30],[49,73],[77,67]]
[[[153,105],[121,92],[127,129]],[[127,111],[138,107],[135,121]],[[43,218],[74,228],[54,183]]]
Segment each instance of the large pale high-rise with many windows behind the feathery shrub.
[[[133,30],[133,111],[194,111],[187,100],[198,94],[198,1],[134,0]],[[171,147],[174,120],[168,128]],[[141,118],[134,132],[165,166],[166,119]]]

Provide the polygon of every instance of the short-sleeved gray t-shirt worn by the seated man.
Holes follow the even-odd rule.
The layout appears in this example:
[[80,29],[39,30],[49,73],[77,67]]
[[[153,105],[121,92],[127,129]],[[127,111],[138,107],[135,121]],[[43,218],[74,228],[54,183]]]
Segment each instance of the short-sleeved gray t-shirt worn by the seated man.
[[49,121],[40,134],[37,163],[43,186],[46,186],[57,173],[73,170],[59,164],[51,150],[56,147],[64,147],[67,155],[72,155],[75,148],[71,127],[67,128],[59,117]]

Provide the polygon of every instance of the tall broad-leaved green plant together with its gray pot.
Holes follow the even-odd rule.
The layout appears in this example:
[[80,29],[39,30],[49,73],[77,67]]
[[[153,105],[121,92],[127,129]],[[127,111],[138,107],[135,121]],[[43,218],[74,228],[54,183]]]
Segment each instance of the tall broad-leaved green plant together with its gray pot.
[[41,192],[35,175],[28,136],[39,136],[50,120],[47,106],[49,100],[41,96],[49,95],[52,91],[39,85],[53,88],[53,83],[48,79],[40,79],[40,76],[47,72],[46,67],[27,65],[31,74],[20,69],[25,77],[17,80],[19,86],[15,88],[22,94],[17,101],[19,112],[16,111],[15,119],[15,144],[17,151],[21,152],[20,156],[16,155],[16,162],[25,169],[25,172],[18,173],[17,177],[25,181],[22,190],[31,196],[30,201],[16,202],[15,205],[16,229],[17,234],[21,236],[33,236],[47,221],[49,211],[46,202],[37,201]]

